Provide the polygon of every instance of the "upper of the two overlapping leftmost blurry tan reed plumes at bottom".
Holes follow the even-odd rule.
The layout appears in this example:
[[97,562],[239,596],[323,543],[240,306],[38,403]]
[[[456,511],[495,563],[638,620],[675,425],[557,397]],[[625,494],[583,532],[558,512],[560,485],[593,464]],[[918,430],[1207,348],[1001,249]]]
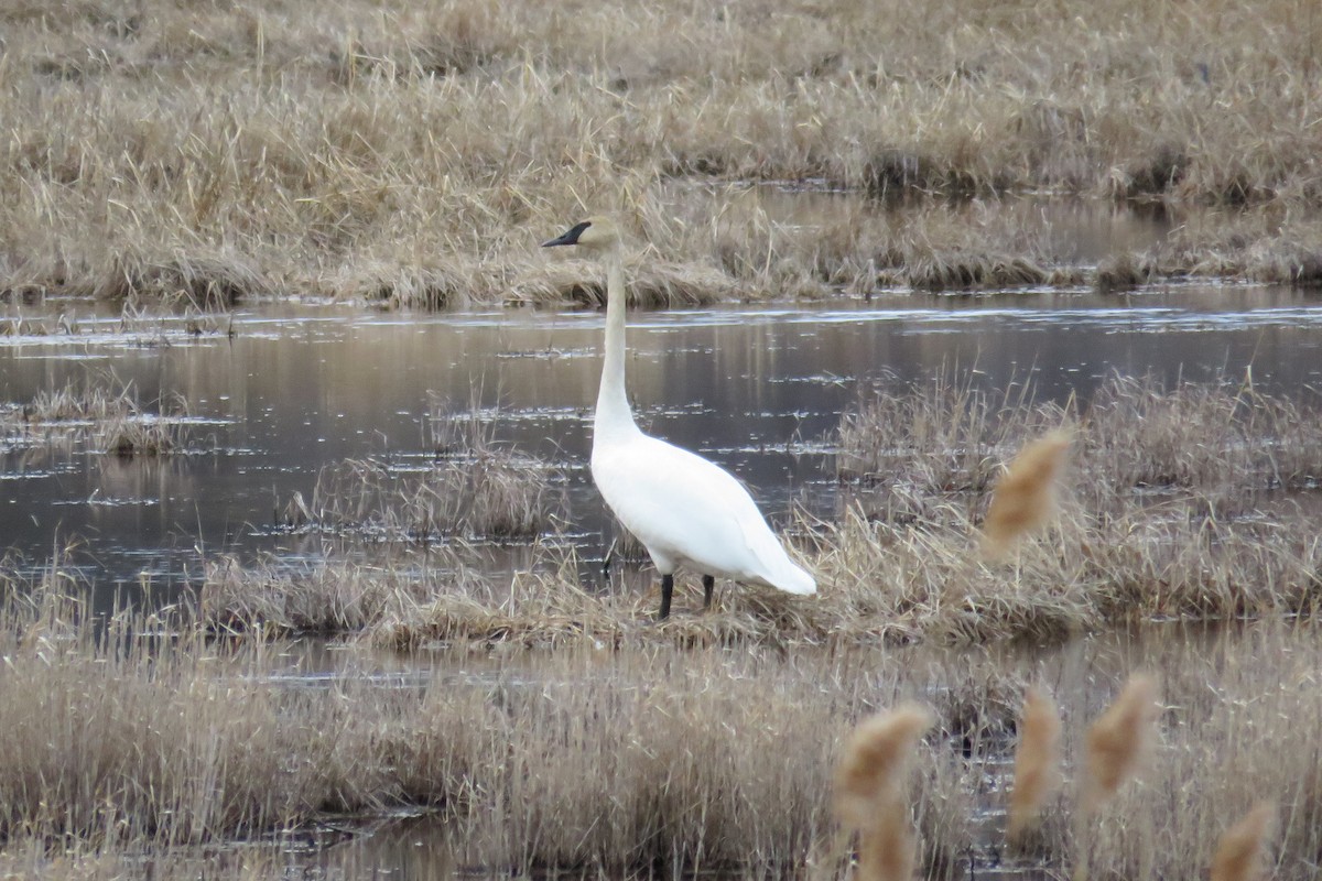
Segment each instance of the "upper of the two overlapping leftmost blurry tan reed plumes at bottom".
[[933,721],[925,707],[902,704],[858,724],[836,767],[836,815],[842,826],[866,832],[899,800],[914,744]]

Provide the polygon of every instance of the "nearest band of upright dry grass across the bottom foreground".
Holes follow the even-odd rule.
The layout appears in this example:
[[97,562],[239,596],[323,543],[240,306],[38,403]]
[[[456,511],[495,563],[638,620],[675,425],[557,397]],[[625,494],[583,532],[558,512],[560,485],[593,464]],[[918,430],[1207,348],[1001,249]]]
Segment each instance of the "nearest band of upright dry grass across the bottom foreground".
[[[300,682],[292,647],[213,642],[186,614],[124,613],[98,631],[58,560],[40,582],[3,577],[0,863],[20,876],[107,877],[145,861],[171,877],[197,848],[420,806],[448,818],[461,865],[492,872],[837,877],[830,769],[861,717],[915,699],[937,720],[910,790],[920,861],[927,877],[957,877],[999,847],[998,822],[973,814],[1001,808],[988,782],[1006,773],[1025,683],[1060,699],[1077,779],[1084,725],[1134,667],[1163,679],[1153,761],[1084,833],[1069,831],[1067,787],[1040,849],[1018,859],[1063,870],[1087,852],[1099,877],[1173,877],[1206,865],[1260,798],[1281,806],[1276,877],[1309,877],[1322,845],[1310,736],[1322,701],[1300,687],[1322,662],[1309,627],[992,650],[977,663],[914,647],[579,642],[434,652],[420,659],[432,672],[405,683],[365,676],[370,654],[350,654],[342,674]],[[284,870],[239,863],[243,877]]]

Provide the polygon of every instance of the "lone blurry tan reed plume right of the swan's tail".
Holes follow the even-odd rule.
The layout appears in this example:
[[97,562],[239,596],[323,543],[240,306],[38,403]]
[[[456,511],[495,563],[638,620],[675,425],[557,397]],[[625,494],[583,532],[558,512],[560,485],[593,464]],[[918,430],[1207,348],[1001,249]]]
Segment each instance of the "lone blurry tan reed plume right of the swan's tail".
[[1069,432],[1047,432],[1027,444],[1010,462],[992,493],[982,522],[982,553],[1001,559],[1056,510],[1056,478],[1069,450]]

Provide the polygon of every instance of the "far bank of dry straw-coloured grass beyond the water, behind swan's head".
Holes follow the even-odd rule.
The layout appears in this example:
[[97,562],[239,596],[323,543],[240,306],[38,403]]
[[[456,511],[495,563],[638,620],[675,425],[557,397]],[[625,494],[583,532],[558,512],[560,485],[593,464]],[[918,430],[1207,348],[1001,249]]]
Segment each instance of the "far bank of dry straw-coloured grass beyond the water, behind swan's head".
[[[1264,206],[1249,272],[1261,252],[1284,280],[1317,279],[1322,15],[1301,0],[921,15],[748,0],[629,16],[522,0],[78,0],[59,15],[11,4],[0,21],[11,293],[490,302],[521,279],[524,296],[575,289],[543,276],[534,246],[603,207],[678,267],[649,299],[686,281],[705,297],[801,296],[865,284],[869,267],[916,287],[1056,269],[974,226],[895,248],[876,222],[730,225],[677,198],[690,178],[882,201]],[[804,238],[824,243],[784,242]],[[1214,242],[1191,247],[1177,268],[1237,271]]]

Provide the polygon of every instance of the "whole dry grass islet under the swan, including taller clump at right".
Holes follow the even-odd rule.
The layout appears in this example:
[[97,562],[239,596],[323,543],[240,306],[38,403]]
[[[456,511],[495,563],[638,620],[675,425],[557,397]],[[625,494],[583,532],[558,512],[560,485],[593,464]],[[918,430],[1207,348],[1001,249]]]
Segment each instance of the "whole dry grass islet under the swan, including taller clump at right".
[[[394,647],[1050,643],[1145,619],[1311,616],[1322,588],[1311,539],[1322,526],[1311,498],[1322,431],[1310,413],[1248,382],[1165,390],[1114,378],[1083,412],[1036,404],[1025,388],[992,394],[949,378],[882,390],[842,421],[839,515],[800,516],[787,530],[820,594],[732,586],[714,613],[662,626],[642,623],[645,571],[600,582],[598,567],[554,540],[512,577],[457,563],[443,564],[440,579],[402,576],[332,559],[272,579],[230,563],[206,590],[241,610],[286,594],[313,609],[338,608],[345,590],[397,597],[369,604],[348,627]],[[1048,433],[1038,462],[1046,470],[1023,477],[1023,510],[989,526],[1002,464],[1064,424],[1075,427],[1068,465],[1063,440]],[[994,559],[980,549],[988,535]],[[332,588],[323,604],[319,585]],[[681,597],[697,588],[678,586]],[[334,630],[334,621],[292,629]]]

